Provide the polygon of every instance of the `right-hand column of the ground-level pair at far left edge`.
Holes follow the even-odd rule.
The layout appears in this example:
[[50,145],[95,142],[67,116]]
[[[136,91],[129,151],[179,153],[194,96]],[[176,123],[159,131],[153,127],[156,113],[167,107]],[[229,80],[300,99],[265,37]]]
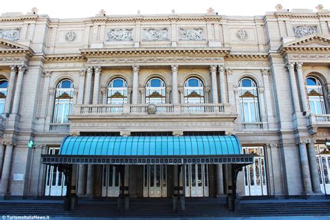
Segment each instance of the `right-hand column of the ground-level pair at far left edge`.
[[11,159],[13,157],[13,147],[14,146],[12,143],[6,144],[6,153],[3,160],[3,168],[2,168],[1,184],[0,184],[1,196],[8,194],[8,184],[10,180],[10,165],[11,165]]

